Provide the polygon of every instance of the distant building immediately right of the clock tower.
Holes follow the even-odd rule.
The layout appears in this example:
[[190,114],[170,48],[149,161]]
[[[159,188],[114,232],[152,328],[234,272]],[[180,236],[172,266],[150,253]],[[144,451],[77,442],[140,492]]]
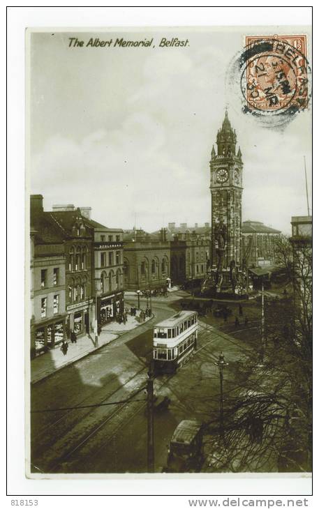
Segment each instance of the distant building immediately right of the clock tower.
[[281,231],[260,221],[242,223],[242,264],[244,267],[272,266],[275,263],[274,242]]

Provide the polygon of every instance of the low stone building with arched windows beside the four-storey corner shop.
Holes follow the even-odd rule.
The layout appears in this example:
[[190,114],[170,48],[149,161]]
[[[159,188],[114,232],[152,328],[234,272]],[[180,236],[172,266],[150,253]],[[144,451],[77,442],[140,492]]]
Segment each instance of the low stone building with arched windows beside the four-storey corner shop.
[[169,276],[170,243],[165,229],[158,235],[142,229],[124,231],[124,288],[166,288]]

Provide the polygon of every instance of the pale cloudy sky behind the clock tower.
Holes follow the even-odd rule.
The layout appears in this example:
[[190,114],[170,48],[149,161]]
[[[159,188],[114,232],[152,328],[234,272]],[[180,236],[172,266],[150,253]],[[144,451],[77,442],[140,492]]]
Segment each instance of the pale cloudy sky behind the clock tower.
[[[266,128],[242,112],[233,92],[240,77],[227,86],[244,36],[260,30],[30,33],[31,193],[43,195],[45,210],[91,206],[92,218],[109,227],[154,231],[168,222],[210,222],[209,160],[228,105],[244,162],[243,220],[289,233],[291,216],[307,213],[304,156],[311,195],[311,112]],[[286,30],[292,28],[261,34]],[[69,47],[71,37],[84,47]],[[85,47],[91,37],[153,43]],[[158,47],[174,37],[188,45]]]

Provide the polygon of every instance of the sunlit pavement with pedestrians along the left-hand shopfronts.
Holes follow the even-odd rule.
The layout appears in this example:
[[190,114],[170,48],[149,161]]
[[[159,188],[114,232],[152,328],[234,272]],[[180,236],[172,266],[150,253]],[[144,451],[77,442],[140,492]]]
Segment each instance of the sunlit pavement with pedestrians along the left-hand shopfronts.
[[[150,318],[146,319],[142,323],[144,324],[149,319]],[[97,346],[94,344],[93,335],[84,335],[83,337],[77,338],[76,343],[68,341],[68,351],[65,356],[60,347],[50,349],[47,353],[31,360],[31,383],[36,383],[46,377],[50,377],[50,375],[57,372],[57,370],[61,370],[61,368],[75,363],[75,361],[100,349],[105,344],[116,340],[119,335],[132,331],[140,325],[142,324],[138,319],[138,314],[136,317],[131,317],[131,315],[128,314],[126,324],[118,324],[116,321],[112,321],[103,326],[101,334],[98,336]]]

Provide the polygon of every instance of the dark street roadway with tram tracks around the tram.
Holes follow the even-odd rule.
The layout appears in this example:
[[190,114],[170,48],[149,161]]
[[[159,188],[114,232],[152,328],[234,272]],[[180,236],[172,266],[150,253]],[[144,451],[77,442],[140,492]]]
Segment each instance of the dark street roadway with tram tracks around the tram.
[[[128,301],[129,303],[129,301]],[[147,471],[146,391],[152,327],[174,309],[154,299],[154,319],[57,371],[31,388],[31,464],[43,473],[123,473]],[[176,305],[175,305],[176,307]],[[225,397],[238,389],[236,362],[251,350],[251,334],[232,324],[200,319],[198,349],[174,376],[154,383],[168,395],[168,410],[155,413],[155,471],[166,463],[168,443],[180,420],[219,418],[219,375],[214,362],[223,351]],[[224,329],[224,331],[223,331]],[[235,332],[228,335],[227,332]],[[244,334],[244,336],[243,336]]]

